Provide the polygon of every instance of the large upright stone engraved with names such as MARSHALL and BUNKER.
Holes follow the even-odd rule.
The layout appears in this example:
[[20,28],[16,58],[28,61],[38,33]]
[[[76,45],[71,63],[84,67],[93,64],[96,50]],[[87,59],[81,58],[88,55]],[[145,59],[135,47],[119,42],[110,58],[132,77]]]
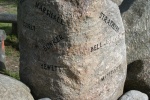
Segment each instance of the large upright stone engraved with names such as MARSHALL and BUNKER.
[[35,98],[120,97],[126,77],[126,48],[115,3],[23,0],[18,7],[18,26],[21,81]]

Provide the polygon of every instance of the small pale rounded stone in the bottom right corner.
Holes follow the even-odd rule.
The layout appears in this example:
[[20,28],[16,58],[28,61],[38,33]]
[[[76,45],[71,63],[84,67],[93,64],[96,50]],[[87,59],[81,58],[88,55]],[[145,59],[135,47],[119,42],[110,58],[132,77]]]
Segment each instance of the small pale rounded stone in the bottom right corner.
[[125,93],[119,100],[149,100],[148,96],[140,91],[131,90]]

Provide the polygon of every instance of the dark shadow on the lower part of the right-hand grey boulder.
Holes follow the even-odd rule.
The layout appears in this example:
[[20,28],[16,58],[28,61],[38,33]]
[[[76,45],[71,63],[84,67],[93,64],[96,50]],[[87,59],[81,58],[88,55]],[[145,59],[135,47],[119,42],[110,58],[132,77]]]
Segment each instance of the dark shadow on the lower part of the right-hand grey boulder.
[[129,90],[138,90],[143,93],[149,92],[149,88],[145,89],[148,85],[142,78],[138,77],[143,71],[143,67],[144,63],[142,60],[136,60],[128,65],[124,92]]

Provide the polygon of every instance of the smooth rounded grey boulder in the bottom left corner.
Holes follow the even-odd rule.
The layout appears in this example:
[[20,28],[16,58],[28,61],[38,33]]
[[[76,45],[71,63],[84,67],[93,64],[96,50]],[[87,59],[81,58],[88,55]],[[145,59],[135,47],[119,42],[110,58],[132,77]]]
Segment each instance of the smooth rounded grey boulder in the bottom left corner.
[[23,83],[0,74],[0,100],[34,100]]

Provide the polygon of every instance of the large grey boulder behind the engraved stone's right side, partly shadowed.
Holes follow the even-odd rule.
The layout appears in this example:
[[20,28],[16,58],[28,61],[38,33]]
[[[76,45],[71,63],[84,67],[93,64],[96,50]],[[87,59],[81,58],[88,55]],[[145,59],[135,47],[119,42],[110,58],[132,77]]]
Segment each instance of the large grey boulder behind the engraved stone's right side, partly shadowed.
[[120,6],[126,31],[128,74],[125,89],[150,96],[150,1],[124,0]]

